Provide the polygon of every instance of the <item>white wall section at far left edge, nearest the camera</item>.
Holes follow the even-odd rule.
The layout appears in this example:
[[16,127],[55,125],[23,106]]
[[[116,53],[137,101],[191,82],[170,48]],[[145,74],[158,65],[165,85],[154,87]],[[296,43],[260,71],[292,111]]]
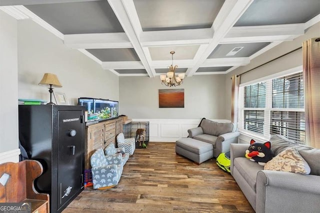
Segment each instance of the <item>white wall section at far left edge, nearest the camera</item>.
[[17,21],[0,10],[0,163],[18,160],[17,75]]

